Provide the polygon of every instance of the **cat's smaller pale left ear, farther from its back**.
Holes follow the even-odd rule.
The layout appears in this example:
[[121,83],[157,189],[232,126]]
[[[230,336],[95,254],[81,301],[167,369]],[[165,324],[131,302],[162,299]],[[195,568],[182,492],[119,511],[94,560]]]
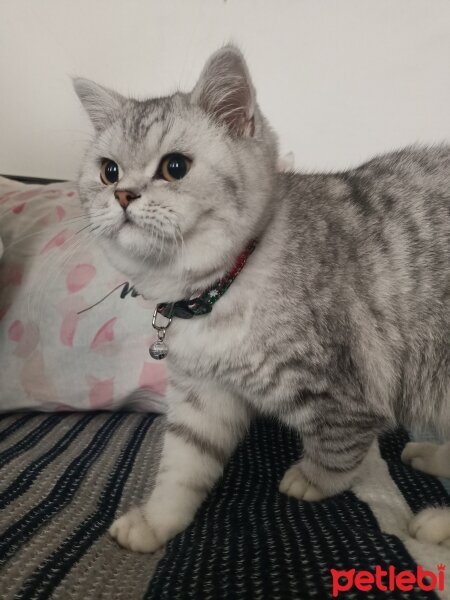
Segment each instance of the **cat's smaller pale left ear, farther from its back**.
[[76,77],[73,87],[97,131],[110,125],[122,109],[125,98],[94,81]]

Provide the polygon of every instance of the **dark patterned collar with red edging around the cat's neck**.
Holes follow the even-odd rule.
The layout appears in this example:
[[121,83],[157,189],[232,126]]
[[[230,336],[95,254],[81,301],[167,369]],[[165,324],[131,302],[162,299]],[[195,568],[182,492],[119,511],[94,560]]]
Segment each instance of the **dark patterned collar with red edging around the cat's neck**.
[[225,294],[227,289],[242,271],[248,257],[252,254],[255,247],[256,240],[252,240],[247,248],[238,256],[233,268],[199,296],[187,300],[178,300],[178,302],[162,302],[157,305],[155,312],[163,315],[167,319],[172,319],[173,317],[191,319],[198,315],[210,313],[217,300]]

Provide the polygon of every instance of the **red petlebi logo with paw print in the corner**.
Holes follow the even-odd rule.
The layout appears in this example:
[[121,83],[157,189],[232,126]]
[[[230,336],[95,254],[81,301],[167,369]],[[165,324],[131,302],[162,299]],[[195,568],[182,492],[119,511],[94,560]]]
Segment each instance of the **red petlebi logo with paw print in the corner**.
[[433,590],[442,592],[445,587],[445,565],[437,565],[436,572],[426,571],[420,565],[415,571],[397,571],[393,565],[383,569],[376,565],[373,571],[331,569],[330,573],[334,598],[343,592],[355,589],[361,592],[370,592],[373,589],[381,592],[393,592],[394,590],[411,592],[417,587],[424,592]]

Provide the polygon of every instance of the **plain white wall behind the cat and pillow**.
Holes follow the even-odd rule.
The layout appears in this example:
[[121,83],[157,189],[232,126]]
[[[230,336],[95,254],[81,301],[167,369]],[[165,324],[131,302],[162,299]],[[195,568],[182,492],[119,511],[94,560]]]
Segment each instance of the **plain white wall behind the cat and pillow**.
[[90,126],[70,75],[187,90],[230,39],[301,168],[450,140],[448,0],[0,0],[0,173],[76,176]]

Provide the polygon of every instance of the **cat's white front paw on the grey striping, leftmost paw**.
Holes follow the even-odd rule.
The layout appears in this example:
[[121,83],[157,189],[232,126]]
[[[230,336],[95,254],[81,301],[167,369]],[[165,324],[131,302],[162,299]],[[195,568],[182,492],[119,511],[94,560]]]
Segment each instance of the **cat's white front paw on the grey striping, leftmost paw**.
[[110,535],[124,548],[134,552],[154,552],[161,542],[140,508],[132,508],[109,528]]

